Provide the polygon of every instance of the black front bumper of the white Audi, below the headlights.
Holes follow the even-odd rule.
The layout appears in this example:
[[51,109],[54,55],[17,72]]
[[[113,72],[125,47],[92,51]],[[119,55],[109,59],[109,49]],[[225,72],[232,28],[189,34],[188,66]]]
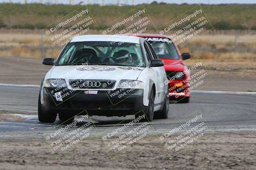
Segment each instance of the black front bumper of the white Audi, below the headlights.
[[[88,90],[43,88],[45,110],[74,115],[125,116],[144,110],[142,89]],[[61,92],[62,101],[55,93]],[[90,90],[92,92],[92,90]],[[68,94],[68,95],[67,95]]]

